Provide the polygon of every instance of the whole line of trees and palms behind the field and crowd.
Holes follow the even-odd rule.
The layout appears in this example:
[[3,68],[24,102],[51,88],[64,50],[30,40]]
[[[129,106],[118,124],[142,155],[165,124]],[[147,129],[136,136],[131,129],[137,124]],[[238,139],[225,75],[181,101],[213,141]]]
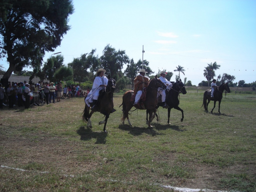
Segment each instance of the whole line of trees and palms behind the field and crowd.
[[[105,46],[100,57],[95,55],[96,49],[92,49],[67,65],[64,65],[62,55],[52,56],[44,62],[42,58],[45,52],[52,52],[61,45],[63,35],[70,29],[68,19],[73,12],[72,0],[0,1],[0,59],[6,57],[9,63],[6,71],[0,65],[3,78],[9,79],[14,72],[17,75],[30,76],[30,81],[37,76],[51,81],[81,83],[93,81],[95,72],[104,68],[106,74],[116,78],[118,89],[123,89],[127,84],[131,84],[133,88],[133,79],[142,67],[148,72],[148,76],[154,77],[147,60],[135,62],[129,59],[125,50],[116,50],[109,44]],[[127,67],[122,72],[124,65]],[[23,71],[24,67],[30,67],[32,71]],[[215,70],[219,67],[216,62],[207,64],[204,76],[208,85],[205,81],[199,85],[209,86],[216,76]],[[174,70],[178,72],[175,79],[180,79],[180,73],[185,75],[184,71],[184,67],[178,65]],[[160,73],[158,70],[157,74]],[[166,78],[169,80],[172,76],[173,72],[167,71]],[[231,86],[247,86],[243,80],[233,83],[234,79],[234,76],[223,73],[217,77],[217,83],[226,81]],[[184,83],[186,86],[193,86],[186,77]]]

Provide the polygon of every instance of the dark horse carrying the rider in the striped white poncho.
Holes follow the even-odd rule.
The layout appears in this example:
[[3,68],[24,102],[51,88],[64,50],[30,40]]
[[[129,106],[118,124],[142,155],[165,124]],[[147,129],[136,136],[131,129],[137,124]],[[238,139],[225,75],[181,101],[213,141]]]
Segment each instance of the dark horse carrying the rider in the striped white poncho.
[[[113,103],[113,93],[115,91],[115,79],[110,78],[109,76],[109,80],[108,80],[108,84],[106,86],[106,89],[103,90],[102,93],[100,93],[98,101],[97,101],[97,112],[102,113],[103,115],[105,115],[105,120],[104,121],[100,121],[100,124],[104,123],[104,129],[103,131],[106,132],[106,124],[109,118],[110,113],[113,113],[114,111],[116,111],[114,109],[114,103]],[[85,99],[85,98],[84,98]],[[90,103],[90,106],[92,106],[92,103]],[[90,113],[90,107],[85,104],[84,110],[83,110],[83,120],[84,122],[87,121],[87,127],[92,128],[92,123],[91,123],[91,116],[94,113],[94,111],[91,111]]]

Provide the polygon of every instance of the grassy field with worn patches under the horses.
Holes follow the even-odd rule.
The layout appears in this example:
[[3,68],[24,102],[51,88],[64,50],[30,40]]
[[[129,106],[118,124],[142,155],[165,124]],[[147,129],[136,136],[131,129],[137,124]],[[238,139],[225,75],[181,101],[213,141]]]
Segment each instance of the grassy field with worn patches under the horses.
[[[206,113],[203,90],[180,95],[181,112],[146,111],[121,124],[122,94],[103,133],[81,120],[83,98],[31,109],[0,111],[0,191],[173,191],[164,186],[227,191],[256,190],[256,95],[223,95],[220,112]],[[211,110],[213,102],[208,109]]]

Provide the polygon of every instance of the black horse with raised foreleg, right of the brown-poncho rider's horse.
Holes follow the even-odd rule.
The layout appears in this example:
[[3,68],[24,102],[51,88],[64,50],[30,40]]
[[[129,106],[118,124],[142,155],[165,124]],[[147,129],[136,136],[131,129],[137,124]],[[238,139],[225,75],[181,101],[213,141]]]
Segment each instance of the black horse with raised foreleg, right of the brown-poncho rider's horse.
[[[179,94],[182,93],[182,94],[186,94],[187,91],[185,89],[185,86],[184,86],[184,83],[181,81],[181,79],[179,81],[176,81],[174,84],[173,84],[173,87],[169,90],[169,92],[167,93],[167,97],[166,97],[166,104],[169,105],[169,108],[168,108],[168,121],[167,123],[170,124],[170,112],[171,112],[171,109],[174,108],[174,109],[177,109],[179,111],[181,111],[182,113],[182,118],[180,119],[181,122],[183,122],[183,119],[184,119],[184,113],[183,113],[183,110],[179,108]],[[158,102],[158,105],[156,108],[158,108],[159,106],[163,106],[163,103],[162,102]],[[158,120],[158,116],[157,114],[156,115],[156,118]],[[148,111],[147,111],[147,117],[146,117],[146,121],[148,121]]]

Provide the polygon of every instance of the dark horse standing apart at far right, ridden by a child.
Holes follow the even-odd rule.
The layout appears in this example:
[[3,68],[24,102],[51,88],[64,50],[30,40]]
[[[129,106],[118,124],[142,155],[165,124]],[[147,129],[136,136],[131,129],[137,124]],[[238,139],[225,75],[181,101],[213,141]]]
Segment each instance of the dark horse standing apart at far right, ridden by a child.
[[[203,104],[202,104],[202,106],[204,106],[204,108],[205,108],[205,111],[208,112],[208,104],[210,103],[210,101],[214,101],[214,107],[211,110],[211,113],[212,113],[212,111],[215,108],[216,101],[219,101],[219,113],[220,113],[220,102],[221,102],[222,94],[223,94],[224,91],[230,93],[228,83],[222,83],[219,86],[219,88],[217,87],[216,90],[214,91],[214,95],[213,95],[214,97],[211,97],[211,90],[210,89],[205,91],[204,100],[203,100]],[[206,103],[207,100],[208,100],[208,102]]]

